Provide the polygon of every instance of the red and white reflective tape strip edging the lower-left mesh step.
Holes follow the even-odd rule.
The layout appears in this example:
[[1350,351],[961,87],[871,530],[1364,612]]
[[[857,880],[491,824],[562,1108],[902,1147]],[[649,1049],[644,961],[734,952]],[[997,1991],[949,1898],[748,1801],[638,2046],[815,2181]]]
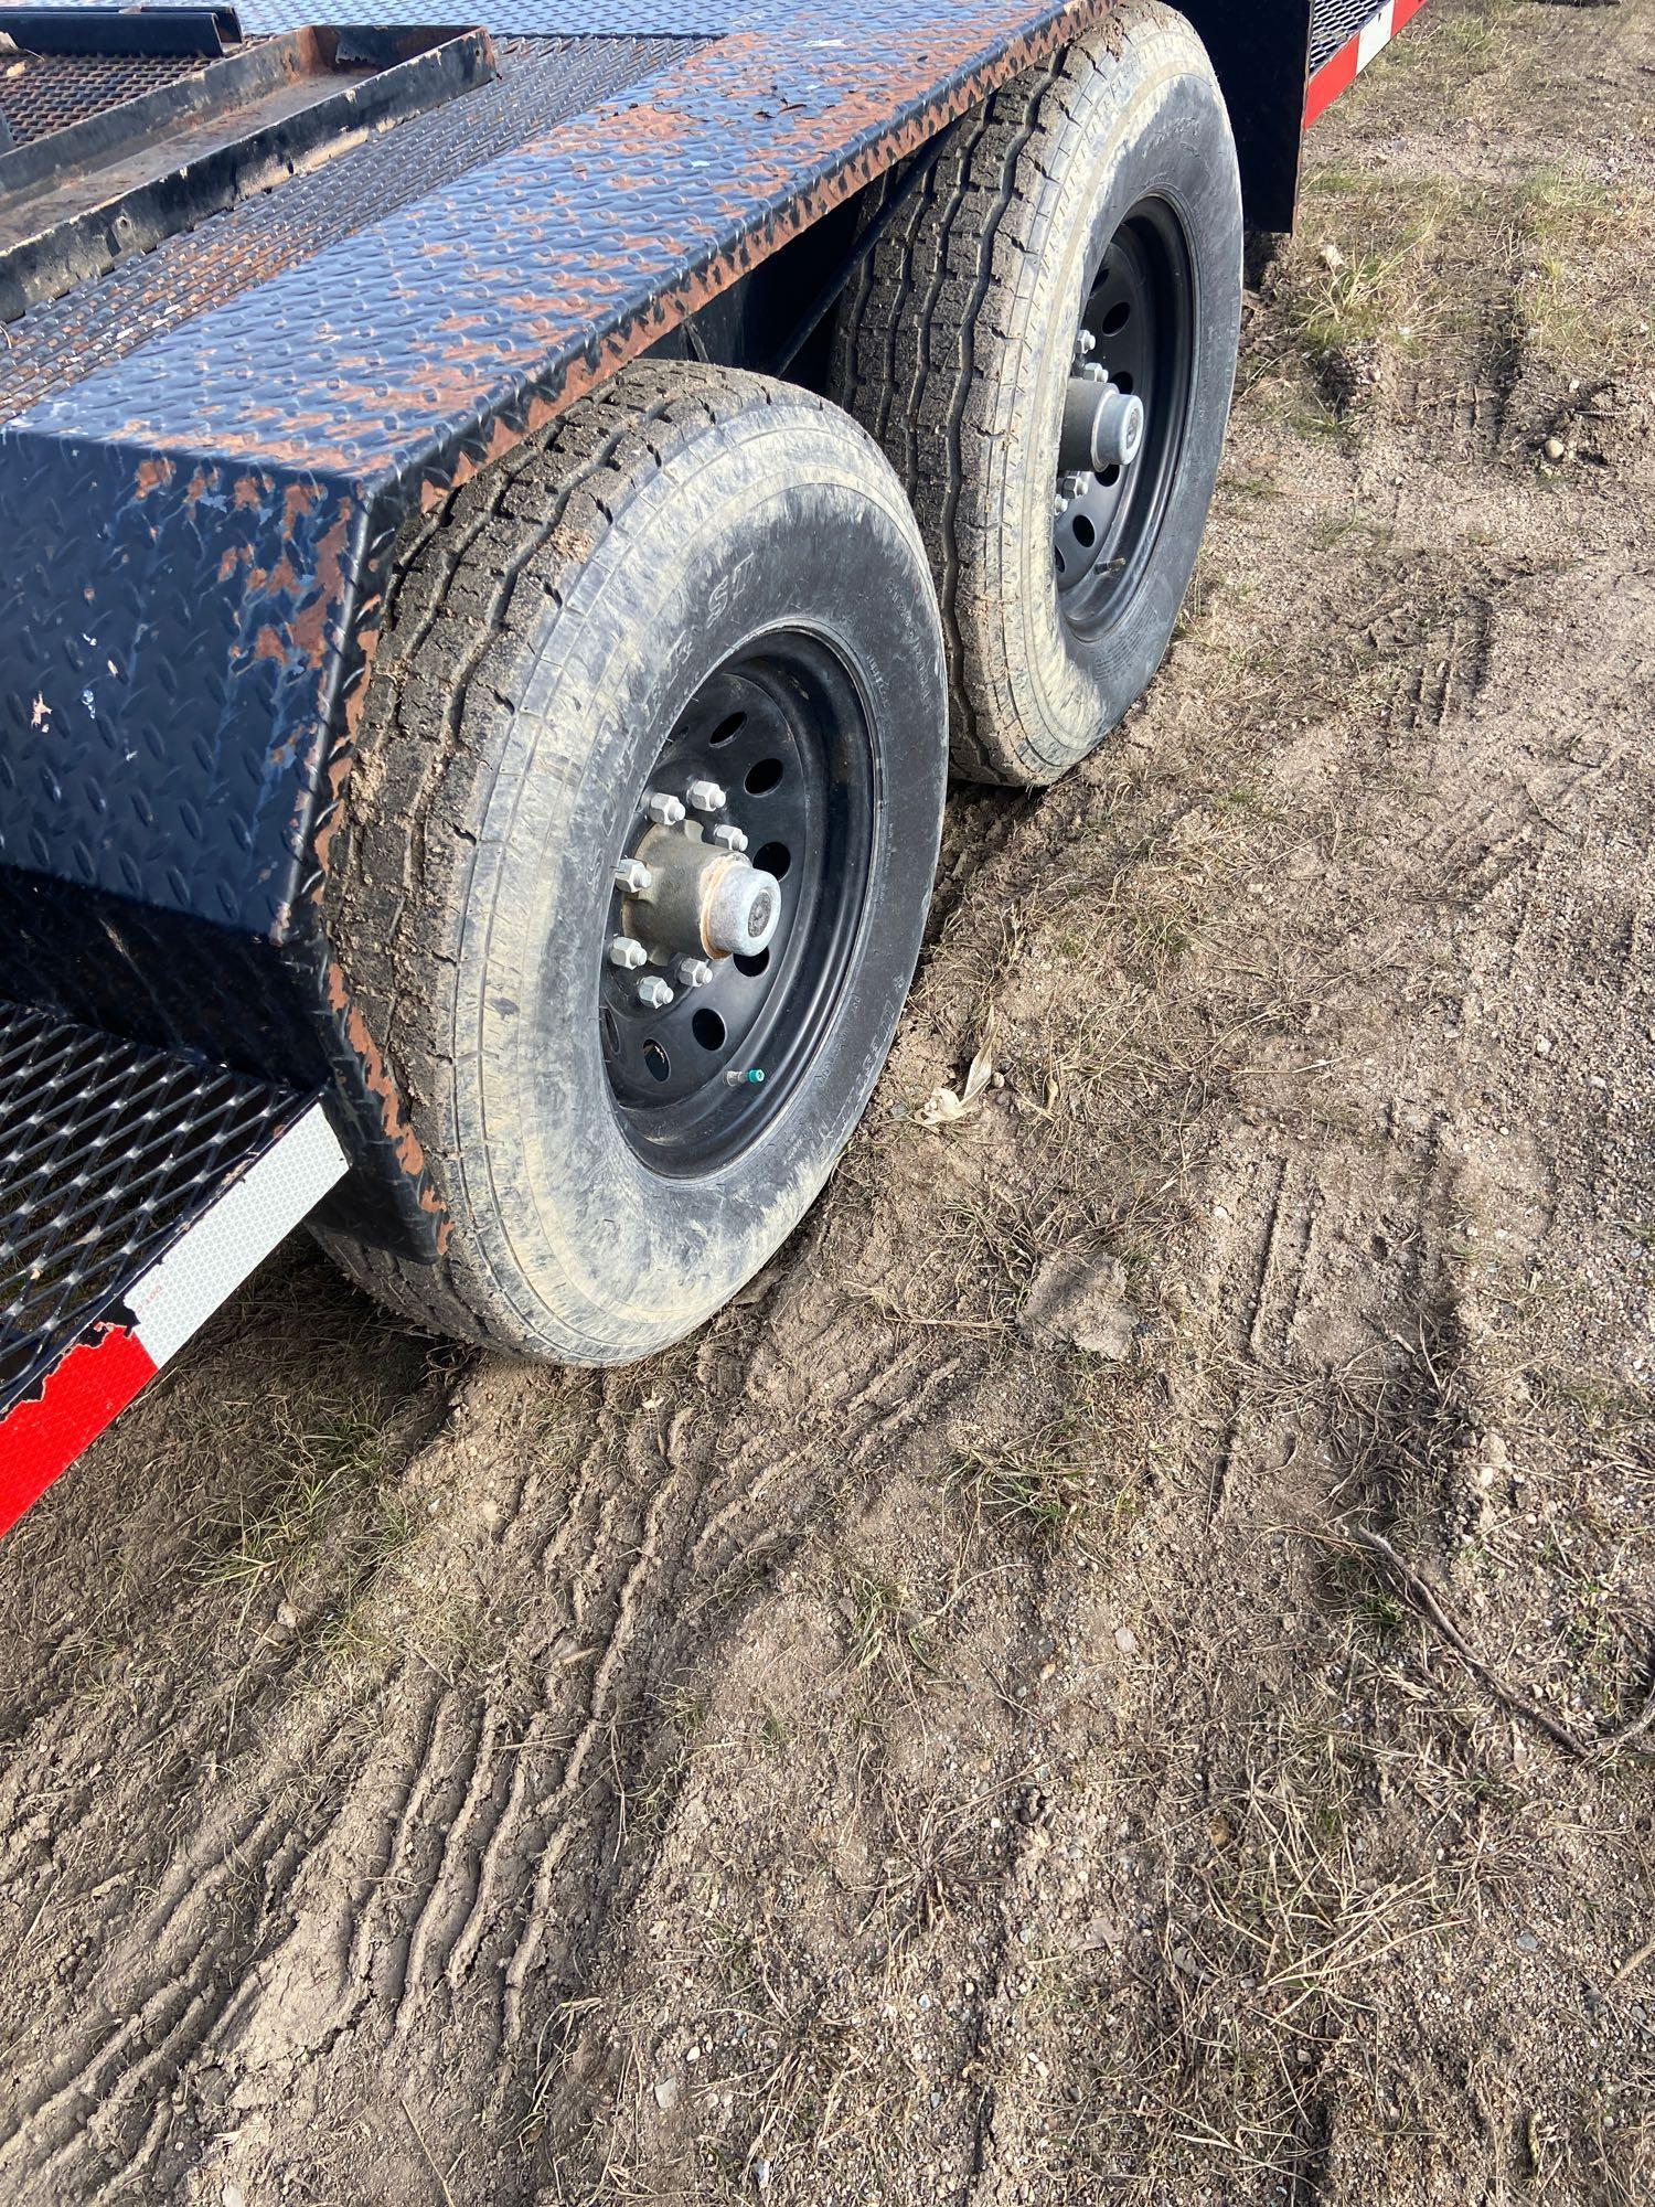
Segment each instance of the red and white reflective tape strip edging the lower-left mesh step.
[[320,1104],[236,1174],[218,1201],[0,1417],[0,1534],[154,1379],[346,1170]]

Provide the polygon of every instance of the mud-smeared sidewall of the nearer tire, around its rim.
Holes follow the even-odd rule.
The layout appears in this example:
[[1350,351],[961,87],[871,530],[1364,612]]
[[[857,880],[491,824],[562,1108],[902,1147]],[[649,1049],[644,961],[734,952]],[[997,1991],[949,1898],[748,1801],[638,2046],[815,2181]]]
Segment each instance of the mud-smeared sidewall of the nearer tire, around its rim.
[[[545,1333],[549,1315],[594,1362],[715,1311],[819,1192],[889,1051],[936,870],[944,691],[918,532],[858,433],[847,466],[850,424],[805,406],[764,415],[697,470],[693,497],[669,470],[647,479],[547,605],[474,863],[459,1159],[490,1185],[468,1187],[466,1207],[525,1326]],[[688,697],[772,627],[830,644],[863,695],[876,775],[863,925],[777,1117],[726,1165],[669,1176],[627,1139],[602,1064],[613,863]]]

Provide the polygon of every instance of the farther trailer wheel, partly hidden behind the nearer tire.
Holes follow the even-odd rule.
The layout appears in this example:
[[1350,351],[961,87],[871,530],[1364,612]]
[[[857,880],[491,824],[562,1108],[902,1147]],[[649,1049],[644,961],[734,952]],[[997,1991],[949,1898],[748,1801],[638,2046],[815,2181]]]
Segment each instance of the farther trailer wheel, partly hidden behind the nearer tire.
[[1240,282],[1225,104],[1158,0],[955,124],[863,263],[834,380],[925,530],[962,775],[1053,781],[1152,682],[1218,475]]

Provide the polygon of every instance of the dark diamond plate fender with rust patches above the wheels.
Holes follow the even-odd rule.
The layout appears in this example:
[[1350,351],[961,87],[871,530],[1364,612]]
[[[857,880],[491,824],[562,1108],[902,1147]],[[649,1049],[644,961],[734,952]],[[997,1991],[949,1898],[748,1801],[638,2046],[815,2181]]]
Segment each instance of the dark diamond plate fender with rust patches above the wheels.
[[[285,4],[247,9],[247,29]],[[252,934],[302,929],[360,616],[410,501],[1103,11],[768,9],[764,31],[536,126],[207,311],[157,316],[146,342],[15,413],[0,861]],[[541,35],[717,20],[636,0],[485,13]],[[395,161],[404,135],[371,150]]]

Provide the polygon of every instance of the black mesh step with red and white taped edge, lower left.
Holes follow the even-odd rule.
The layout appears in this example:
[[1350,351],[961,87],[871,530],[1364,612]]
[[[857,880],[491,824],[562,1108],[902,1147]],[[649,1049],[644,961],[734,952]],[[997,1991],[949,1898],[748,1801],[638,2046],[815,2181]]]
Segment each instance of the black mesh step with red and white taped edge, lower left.
[[311,1095],[0,1002],[0,1532],[342,1172]]

